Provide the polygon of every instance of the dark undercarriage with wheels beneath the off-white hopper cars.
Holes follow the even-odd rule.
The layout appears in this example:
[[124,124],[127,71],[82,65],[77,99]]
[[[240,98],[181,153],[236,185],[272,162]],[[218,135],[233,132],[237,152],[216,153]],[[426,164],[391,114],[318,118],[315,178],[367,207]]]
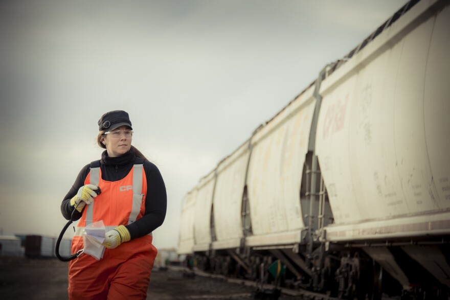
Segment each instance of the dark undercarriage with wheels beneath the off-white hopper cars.
[[[340,299],[448,299],[450,237],[196,252],[198,269]],[[297,252],[296,252],[297,251]],[[277,280],[267,268],[280,260]]]

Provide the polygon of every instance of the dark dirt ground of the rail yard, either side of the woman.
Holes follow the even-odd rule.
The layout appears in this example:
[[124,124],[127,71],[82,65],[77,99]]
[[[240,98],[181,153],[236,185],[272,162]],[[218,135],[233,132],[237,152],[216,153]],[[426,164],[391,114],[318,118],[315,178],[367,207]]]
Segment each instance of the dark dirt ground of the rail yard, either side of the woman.
[[[0,299],[68,299],[68,263],[57,259],[0,257]],[[203,276],[189,276],[183,271],[152,271],[147,299],[253,299],[254,287]],[[282,296],[279,300],[292,298]]]

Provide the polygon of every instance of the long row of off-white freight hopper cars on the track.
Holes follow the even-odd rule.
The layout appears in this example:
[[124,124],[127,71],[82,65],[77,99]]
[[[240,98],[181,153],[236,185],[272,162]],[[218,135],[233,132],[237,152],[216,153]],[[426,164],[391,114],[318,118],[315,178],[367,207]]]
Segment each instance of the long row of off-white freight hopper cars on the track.
[[[448,299],[450,2],[412,0],[200,178],[191,266],[343,299]],[[195,262],[192,264],[192,262]]]

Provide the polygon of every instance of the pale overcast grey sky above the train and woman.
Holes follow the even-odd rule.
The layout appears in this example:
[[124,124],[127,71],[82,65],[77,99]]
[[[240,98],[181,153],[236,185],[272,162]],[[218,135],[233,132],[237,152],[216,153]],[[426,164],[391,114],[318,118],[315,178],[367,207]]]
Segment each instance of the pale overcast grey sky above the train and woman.
[[1,1],[3,234],[58,236],[98,119],[123,109],[166,183],[153,242],[176,247],[200,177],[405,3]]

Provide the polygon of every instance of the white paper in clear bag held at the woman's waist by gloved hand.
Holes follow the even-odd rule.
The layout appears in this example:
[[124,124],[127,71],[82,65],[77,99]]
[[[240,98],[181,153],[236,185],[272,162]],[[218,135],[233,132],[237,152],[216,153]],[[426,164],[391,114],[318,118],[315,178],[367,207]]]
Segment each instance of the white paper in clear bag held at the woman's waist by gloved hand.
[[84,252],[96,260],[103,258],[105,246],[102,245],[105,240],[106,228],[103,221],[97,221],[84,227],[83,243]]

